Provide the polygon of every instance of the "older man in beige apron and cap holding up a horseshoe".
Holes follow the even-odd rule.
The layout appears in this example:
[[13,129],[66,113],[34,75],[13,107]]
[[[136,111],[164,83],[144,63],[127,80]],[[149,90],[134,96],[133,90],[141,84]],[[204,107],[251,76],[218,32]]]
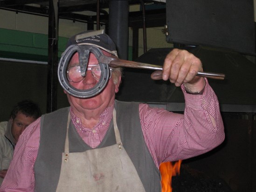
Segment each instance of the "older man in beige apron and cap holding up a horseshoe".
[[[68,45],[73,44],[116,55],[106,34],[78,34],[70,38]],[[78,56],[71,57],[64,72],[76,90],[91,89],[100,77],[97,58],[90,53],[83,77]],[[201,61],[185,50],[166,56],[161,78],[181,86],[184,115],[115,100],[118,68],[110,68],[111,77],[96,96],[79,98],[64,90],[70,108],[42,116],[24,131],[1,190],[161,191],[161,162],[200,155],[224,140],[218,100],[207,79],[195,76],[198,71]],[[152,78],[159,79],[158,72]]]

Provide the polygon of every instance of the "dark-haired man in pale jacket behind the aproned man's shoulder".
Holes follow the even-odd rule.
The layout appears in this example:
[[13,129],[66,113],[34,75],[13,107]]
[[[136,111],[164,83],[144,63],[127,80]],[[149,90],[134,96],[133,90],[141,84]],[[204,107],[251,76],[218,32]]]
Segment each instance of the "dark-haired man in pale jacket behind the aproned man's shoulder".
[[7,173],[21,133],[40,116],[41,110],[37,104],[24,100],[14,106],[8,122],[0,123],[0,184]]

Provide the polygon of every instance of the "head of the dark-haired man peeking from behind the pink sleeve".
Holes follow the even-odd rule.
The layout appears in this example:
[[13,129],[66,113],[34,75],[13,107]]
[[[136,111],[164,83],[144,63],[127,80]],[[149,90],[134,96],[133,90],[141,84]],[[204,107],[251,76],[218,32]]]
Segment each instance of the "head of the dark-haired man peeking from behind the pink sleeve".
[[10,115],[10,121],[12,123],[11,132],[15,144],[23,130],[38,117],[41,117],[41,115],[38,105],[32,101],[21,101],[14,106]]

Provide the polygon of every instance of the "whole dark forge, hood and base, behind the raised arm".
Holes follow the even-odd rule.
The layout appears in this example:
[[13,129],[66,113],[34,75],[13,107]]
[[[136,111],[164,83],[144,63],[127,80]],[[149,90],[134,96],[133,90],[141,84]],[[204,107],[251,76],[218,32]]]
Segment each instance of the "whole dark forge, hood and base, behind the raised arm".
[[[226,138],[214,150],[182,161],[180,177],[173,178],[173,192],[254,192],[256,66],[244,55],[225,49],[185,49],[201,59],[205,71],[226,75],[223,81],[208,79],[220,101]],[[161,65],[170,50],[151,49],[136,61]],[[170,82],[151,80],[151,73],[152,70],[125,69],[118,100],[146,102],[183,113],[185,103],[180,88]]]

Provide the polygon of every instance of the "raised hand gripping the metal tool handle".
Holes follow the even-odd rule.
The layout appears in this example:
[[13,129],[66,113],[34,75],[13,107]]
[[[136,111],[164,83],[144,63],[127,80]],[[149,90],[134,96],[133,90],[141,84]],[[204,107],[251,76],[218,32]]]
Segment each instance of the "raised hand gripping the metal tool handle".
[[170,80],[175,86],[183,84],[189,92],[200,92],[205,86],[203,77],[196,76],[203,71],[200,59],[186,50],[174,48],[167,56],[163,71],[155,71],[151,78],[154,80]]

